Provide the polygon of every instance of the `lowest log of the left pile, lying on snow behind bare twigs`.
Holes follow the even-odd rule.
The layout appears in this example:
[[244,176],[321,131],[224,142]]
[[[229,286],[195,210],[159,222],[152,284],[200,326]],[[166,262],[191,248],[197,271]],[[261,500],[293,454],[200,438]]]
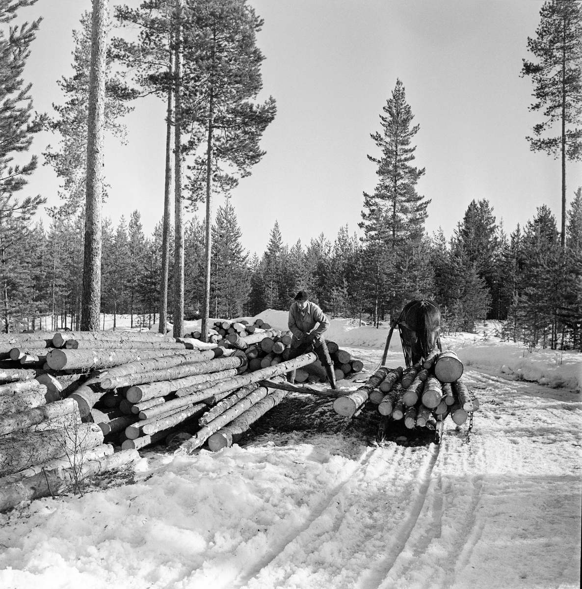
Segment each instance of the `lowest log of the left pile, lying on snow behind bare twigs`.
[[83,462],[80,468],[57,468],[39,472],[0,490],[0,511],[14,507],[21,501],[58,495],[67,489],[75,488],[84,479],[100,472],[120,468],[139,459],[138,452],[127,450]]

